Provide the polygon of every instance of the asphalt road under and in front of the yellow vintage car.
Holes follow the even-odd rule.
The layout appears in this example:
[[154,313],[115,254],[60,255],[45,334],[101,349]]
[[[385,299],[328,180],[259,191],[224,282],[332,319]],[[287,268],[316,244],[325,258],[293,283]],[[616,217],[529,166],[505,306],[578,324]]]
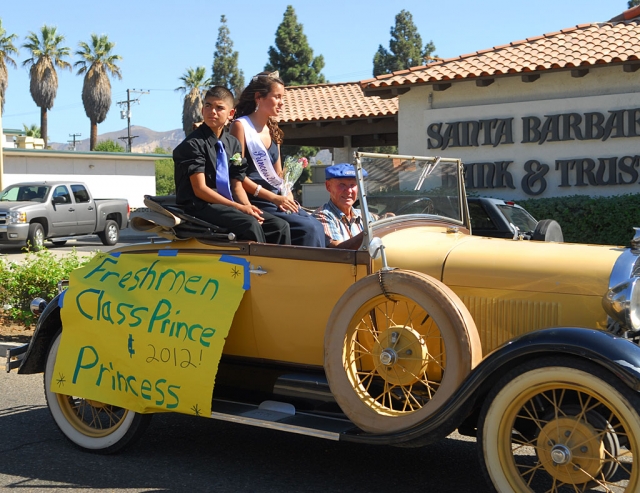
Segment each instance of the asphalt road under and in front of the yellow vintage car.
[[421,449],[336,443],[195,418],[155,415],[134,447],[82,452],[49,415],[42,375],[0,368],[0,491],[488,491],[475,440]]

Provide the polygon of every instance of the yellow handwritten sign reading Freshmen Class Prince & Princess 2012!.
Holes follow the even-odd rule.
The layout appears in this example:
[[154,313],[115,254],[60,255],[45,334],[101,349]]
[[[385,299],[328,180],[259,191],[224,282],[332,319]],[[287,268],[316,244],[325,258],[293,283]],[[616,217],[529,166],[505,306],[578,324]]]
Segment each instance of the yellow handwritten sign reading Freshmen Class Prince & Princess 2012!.
[[135,412],[211,415],[244,290],[241,257],[113,254],[74,271],[62,298],[53,392]]

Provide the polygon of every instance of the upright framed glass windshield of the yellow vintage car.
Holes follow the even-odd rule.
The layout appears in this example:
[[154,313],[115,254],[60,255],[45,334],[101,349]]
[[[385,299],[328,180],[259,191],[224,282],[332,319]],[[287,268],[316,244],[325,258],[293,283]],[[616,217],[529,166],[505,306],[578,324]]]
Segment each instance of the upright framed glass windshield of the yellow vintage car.
[[428,214],[463,221],[458,160],[367,154],[360,159],[368,174],[367,206],[379,218]]

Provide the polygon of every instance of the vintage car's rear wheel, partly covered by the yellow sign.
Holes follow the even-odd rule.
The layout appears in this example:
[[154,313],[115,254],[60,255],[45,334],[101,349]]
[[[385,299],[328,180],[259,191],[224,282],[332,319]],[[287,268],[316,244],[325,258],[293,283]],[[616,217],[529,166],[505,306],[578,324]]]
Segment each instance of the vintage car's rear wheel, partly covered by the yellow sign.
[[117,406],[57,394],[53,373],[62,332],[55,337],[44,373],[44,392],[51,416],[72,443],[89,452],[110,454],[134,443],[149,425],[151,414],[138,414]]

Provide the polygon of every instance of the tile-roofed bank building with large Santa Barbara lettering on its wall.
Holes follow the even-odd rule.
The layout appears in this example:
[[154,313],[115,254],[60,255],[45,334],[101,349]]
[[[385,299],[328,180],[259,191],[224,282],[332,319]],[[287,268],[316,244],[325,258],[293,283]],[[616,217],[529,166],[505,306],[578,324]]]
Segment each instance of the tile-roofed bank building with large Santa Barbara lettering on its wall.
[[399,152],[458,157],[499,198],[637,193],[640,7],[360,82],[398,98]]

